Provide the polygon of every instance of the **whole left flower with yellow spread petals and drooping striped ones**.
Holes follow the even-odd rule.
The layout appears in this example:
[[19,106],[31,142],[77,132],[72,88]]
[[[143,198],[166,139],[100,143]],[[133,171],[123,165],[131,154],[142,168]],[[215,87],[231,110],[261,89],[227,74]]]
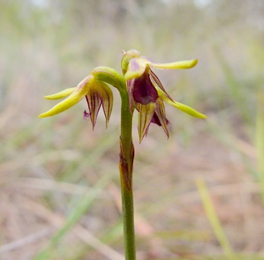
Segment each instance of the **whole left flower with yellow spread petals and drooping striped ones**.
[[82,80],[76,88],[67,88],[54,95],[45,96],[46,99],[61,99],[63,97],[66,98],[62,102],[56,104],[56,106],[47,112],[39,115],[39,117],[52,117],[53,115],[62,113],[85,97],[89,113],[85,111],[83,117],[85,119],[91,118],[91,123],[94,129],[99,109],[102,106],[106,119],[106,126],[108,125],[113,107],[113,93],[106,83],[96,79],[94,75],[89,75]]

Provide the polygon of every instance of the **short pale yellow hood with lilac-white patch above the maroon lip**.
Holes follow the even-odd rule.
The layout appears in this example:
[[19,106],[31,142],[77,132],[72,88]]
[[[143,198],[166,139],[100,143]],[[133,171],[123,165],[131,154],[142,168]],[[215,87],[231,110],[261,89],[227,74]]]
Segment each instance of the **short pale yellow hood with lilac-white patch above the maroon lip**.
[[133,78],[140,78],[140,76],[146,71],[146,60],[144,58],[132,58],[129,62],[129,67],[124,74],[125,80],[131,80]]

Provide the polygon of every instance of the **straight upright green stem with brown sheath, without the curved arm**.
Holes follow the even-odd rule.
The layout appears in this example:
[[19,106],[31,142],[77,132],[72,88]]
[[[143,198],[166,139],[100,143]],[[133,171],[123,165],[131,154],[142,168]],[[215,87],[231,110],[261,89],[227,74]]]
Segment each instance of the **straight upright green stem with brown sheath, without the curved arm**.
[[129,109],[129,95],[120,91],[121,134],[120,134],[120,181],[122,194],[122,217],[124,225],[124,251],[126,260],[135,260],[135,231],[133,209],[133,159],[132,114]]

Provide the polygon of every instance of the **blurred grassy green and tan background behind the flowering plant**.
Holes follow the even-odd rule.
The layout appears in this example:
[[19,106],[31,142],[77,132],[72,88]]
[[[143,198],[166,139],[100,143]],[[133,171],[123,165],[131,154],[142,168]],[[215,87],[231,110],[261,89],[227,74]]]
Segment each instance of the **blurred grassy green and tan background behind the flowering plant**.
[[263,1],[1,0],[0,14],[0,259],[123,259],[118,93],[107,130],[85,102],[37,117],[94,67],[121,71],[122,49],[198,58],[155,73],[208,115],[166,106],[170,139],[151,126],[141,144],[135,115],[137,259],[264,259]]

